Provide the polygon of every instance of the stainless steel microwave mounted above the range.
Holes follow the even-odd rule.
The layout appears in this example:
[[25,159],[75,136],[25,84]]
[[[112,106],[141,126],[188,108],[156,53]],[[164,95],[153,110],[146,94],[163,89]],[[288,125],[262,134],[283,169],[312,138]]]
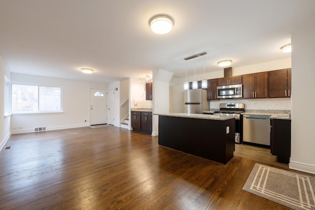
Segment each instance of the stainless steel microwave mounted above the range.
[[226,85],[217,87],[217,98],[242,98],[243,85]]

